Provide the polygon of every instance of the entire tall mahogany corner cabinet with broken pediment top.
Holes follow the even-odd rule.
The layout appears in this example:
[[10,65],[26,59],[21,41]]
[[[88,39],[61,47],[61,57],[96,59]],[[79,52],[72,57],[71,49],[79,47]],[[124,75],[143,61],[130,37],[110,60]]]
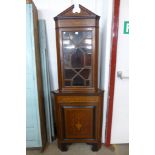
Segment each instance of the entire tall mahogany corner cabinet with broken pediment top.
[[74,5],[54,18],[59,89],[53,92],[58,147],[92,144],[101,147],[103,91],[98,89],[99,16]]

